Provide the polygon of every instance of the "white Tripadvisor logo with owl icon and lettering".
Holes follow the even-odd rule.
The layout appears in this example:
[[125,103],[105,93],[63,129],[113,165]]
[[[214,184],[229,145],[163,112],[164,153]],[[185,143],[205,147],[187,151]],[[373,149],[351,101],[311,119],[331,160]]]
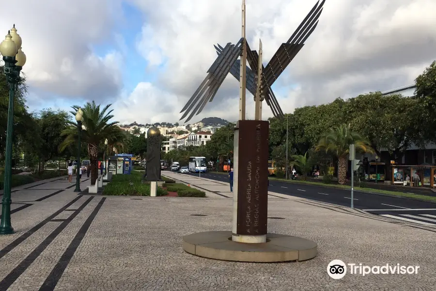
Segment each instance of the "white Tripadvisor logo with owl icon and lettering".
[[385,264],[381,266],[367,266],[363,264],[349,263],[345,264],[340,259],[334,259],[327,265],[327,274],[333,279],[342,279],[347,274],[351,275],[369,275],[369,274],[399,274],[399,275],[412,275],[418,274],[420,266],[402,266],[400,264]]

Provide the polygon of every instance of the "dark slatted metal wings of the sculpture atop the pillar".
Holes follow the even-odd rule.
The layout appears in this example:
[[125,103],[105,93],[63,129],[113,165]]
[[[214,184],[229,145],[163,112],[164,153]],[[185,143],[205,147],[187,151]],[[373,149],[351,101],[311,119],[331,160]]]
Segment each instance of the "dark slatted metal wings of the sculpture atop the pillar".
[[[265,98],[266,104],[271,108],[272,113],[276,117],[283,116],[283,111],[280,108],[279,102],[277,101],[271,86],[279,78],[287,65],[289,65],[295,58],[300,49],[303,48],[304,42],[315,30],[325,2],[326,0],[323,0],[321,4],[319,4],[319,0],[316,2],[289,40],[286,43],[281,44],[280,48],[276,51],[269,63],[263,67],[261,86],[264,93],[261,100]],[[184,119],[189,112],[190,114],[186,122],[188,122],[194,115],[201,113],[207,102],[213,100],[217,94],[219,86],[222,84],[229,72],[239,81],[240,60],[238,60],[238,57],[242,52],[242,43],[243,38],[241,38],[236,45],[228,43],[224,48],[219,44],[218,47],[214,46],[217,50],[218,57],[207,71],[207,77],[180,112],[185,112],[180,120]],[[247,61],[250,65],[250,67],[247,66],[246,88],[251,94],[253,94],[253,96],[256,96],[258,81],[256,75],[259,55],[256,50],[251,50],[249,48],[248,42],[246,42],[246,45]]]

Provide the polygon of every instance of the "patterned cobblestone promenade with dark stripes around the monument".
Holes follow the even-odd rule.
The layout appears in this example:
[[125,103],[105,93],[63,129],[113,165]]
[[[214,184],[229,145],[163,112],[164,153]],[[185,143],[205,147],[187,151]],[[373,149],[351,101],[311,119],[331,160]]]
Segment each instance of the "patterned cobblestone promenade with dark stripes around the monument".
[[[211,183],[190,181],[204,188]],[[225,192],[219,185],[205,199],[142,200],[77,195],[64,181],[35,188],[43,186],[51,190],[13,193],[14,202],[32,205],[12,215],[17,233],[0,237],[0,291],[435,290],[435,231],[270,193],[268,216],[285,219],[269,219],[268,231],[311,239],[318,256],[276,264],[218,261],[187,254],[182,237],[231,229],[232,199],[216,194]],[[57,189],[63,191],[35,201]],[[334,280],[327,275],[333,259],[419,265],[420,271]]]

